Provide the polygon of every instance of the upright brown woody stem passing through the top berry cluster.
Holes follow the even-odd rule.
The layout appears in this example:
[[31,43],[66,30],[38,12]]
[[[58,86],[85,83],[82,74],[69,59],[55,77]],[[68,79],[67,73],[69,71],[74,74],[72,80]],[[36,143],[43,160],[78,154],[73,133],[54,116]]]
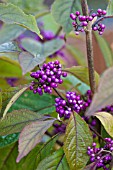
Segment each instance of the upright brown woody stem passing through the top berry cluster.
[[[87,0],[81,0],[82,12],[83,15],[88,16],[89,10],[87,5]],[[95,84],[95,70],[94,70],[94,61],[93,61],[93,45],[92,45],[92,24],[88,23],[88,26],[85,30],[86,33],[86,48],[87,48],[87,60],[89,68],[89,81],[92,95],[95,93],[96,84]]]

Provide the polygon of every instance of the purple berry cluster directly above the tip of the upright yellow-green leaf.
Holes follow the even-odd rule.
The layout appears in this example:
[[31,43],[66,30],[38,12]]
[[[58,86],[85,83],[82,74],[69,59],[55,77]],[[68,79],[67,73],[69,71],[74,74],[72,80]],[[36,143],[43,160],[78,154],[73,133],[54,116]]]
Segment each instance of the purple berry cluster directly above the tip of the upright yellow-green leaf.
[[75,92],[67,92],[66,100],[67,101],[60,97],[56,98],[55,107],[59,117],[69,119],[72,111],[79,113],[83,109],[84,101],[81,99],[81,96],[77,95]]

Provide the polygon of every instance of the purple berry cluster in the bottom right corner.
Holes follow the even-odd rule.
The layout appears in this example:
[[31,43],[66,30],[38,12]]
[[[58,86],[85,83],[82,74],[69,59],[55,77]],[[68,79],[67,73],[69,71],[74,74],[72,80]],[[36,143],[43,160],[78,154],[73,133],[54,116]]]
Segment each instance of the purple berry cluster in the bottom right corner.
[[95,162],[95,167],[108,170],[107,166],[112,160],[113,140],[105,138],[106,144],[103,148],[96,148],[96,143],[89,146],[87,154],[90,156],[90,162]]

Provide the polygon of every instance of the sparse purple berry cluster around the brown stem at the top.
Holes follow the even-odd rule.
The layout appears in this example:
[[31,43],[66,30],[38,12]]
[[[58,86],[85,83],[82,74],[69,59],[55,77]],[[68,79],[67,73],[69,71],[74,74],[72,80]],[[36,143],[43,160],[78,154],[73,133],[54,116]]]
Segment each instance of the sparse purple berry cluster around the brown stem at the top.
[[[71,13],[70,18],[73,20],[72,25],[75,29],[75,34],[79,35],[79,32],[84,32],[84,27],[88,25],[88,22],[95,21],[97,18],[104,17],[106,15],[106,11],[102,9],[98,9],[97,13],[92,13],[89,16],[80,15],[79,11],[76,11],[75,14]],[[100,22],[95,22],[92,25],[93,31],[98,31],[100,35],[103,34],[105,29],[105,25]]]

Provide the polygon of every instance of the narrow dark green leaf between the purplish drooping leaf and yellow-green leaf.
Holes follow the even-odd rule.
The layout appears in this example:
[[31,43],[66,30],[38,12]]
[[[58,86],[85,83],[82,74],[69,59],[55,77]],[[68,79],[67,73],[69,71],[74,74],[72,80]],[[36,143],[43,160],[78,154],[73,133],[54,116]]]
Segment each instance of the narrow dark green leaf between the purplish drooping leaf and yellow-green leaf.
[[47,141],[38,151],[36,164],[38,165],[44,158],[52,153],[53,146],[58,139],[58,135],[53,136],[49,141]]

